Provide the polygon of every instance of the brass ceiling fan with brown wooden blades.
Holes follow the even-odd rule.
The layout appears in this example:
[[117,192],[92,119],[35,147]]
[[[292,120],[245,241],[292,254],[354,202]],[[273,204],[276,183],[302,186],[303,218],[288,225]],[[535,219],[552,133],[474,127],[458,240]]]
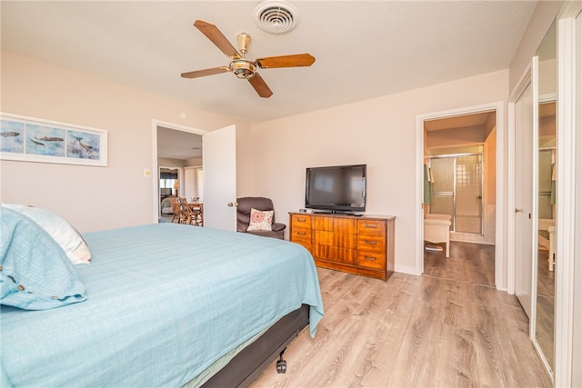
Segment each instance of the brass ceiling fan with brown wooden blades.
[[251,42],[250,35],[242,33],[236,36],[238,40],[238,50],[240,51],[239,53],[236,51],[236,48],[228,42],[225,35],[218,30],[216,25],[207,23],[204,20],[196,20],[194,26],[200,30],[202,34],[206,35],[206,37],[210,39],[210,41],[214,43],[220,51],[232,59],[232,61],[227,66],[218,66],[182,73],[182,77],[184,78],[198,78],[206,75],[217,75],[220,73],[231,72],[236,75],[237,78],[248,80],[253,88],[255,88],[258,95],[268,98],[273,95],[273,92],[266,85],[265,80],[263,80],[263,78],[256,72],[258,69],[310,66],[316,62],[316,58],[309,54],[269,56],[266,58],[257,58],[255,61],[251,61],[245,58],[248,45]]

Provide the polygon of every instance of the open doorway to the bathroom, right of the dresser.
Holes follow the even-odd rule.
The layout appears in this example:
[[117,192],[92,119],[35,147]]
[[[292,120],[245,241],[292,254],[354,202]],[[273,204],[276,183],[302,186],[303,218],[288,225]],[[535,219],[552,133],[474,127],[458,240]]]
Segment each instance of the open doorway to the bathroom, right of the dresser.
[[[502,104],[417,120],[420,274],[499,287],[497,139]],[[422,150],[422,151],[420,151]],[[431,241],[434,240],[434,241]]]

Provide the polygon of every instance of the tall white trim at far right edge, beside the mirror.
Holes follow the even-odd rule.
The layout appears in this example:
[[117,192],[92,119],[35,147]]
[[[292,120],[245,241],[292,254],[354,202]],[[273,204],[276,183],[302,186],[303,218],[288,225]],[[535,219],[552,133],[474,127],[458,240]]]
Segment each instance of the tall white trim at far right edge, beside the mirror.
[[[580,2],[557,20],[557,263],[555,383],[571,386],[576,246],[576,20]],[[575,6],[576,5],[576,6]],[[579,81],[578,81],[579,82]]]

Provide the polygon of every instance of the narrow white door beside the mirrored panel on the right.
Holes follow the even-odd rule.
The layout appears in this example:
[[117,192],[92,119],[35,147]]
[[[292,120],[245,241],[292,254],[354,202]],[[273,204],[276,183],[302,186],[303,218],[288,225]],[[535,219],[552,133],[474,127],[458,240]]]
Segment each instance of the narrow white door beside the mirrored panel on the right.
[[533,212],[533,90],[527,85],[516,102],[516,295],[530,317],[532,297],[532,214]]

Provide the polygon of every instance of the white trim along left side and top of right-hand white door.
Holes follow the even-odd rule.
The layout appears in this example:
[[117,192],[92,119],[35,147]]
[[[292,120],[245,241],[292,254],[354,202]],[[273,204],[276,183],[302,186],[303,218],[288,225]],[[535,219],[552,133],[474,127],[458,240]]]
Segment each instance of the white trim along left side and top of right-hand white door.
[[[531,63],[527,65],[507,102],[507,293],[516,293],[516,102],[531,84]],[[536,239],[537,241],[537,239]]]

